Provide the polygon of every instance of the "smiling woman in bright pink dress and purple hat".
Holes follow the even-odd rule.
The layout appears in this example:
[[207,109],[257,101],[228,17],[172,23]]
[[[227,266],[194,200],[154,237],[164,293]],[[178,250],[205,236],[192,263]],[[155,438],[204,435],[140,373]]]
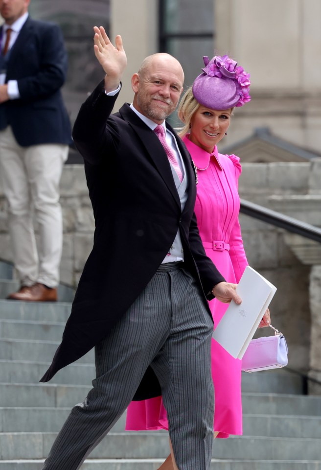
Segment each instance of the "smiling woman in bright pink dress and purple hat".
[[[227,135],[233,108],[250,101],[250,75],[228,56],[204,57],[205,68],[184,94],[178,114],[184,123],[180,136],[197,169],[195,213],[206,251],[228,282],[237,283],[247,266],[240,224],[239,158],[223,155],[217,143]],[[217,326],[228,305],[209,302]],[[260,326],[270,321],[267,310]],[[214,339],[211,348],[215,393],[214,437],[242,434],[241,361]],[[168,429],[161,397],[133,401],[127,410],[127,430]],[[177,469],[169,455],[161,470]]]

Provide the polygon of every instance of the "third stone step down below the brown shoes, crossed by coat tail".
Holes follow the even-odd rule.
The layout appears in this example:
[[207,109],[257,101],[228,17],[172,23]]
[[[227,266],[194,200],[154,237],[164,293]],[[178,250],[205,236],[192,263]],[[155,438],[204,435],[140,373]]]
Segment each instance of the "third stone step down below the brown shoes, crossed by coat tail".
[[[22,360],[28,358],[30,361],[51,362],[60,341],[40,341],[24,339],[0,339],[0,359]],[[77,363],[89,363],[94,361],[93,350],[78,359]]]

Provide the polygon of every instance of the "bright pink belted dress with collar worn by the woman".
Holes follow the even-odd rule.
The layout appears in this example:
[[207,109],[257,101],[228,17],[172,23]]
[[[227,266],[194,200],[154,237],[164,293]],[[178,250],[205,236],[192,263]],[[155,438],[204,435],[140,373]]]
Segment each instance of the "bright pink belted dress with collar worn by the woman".
[[[206,255],[212,259],[228,282],[238,282],[248,262],[238,221],[240,198],[239,158],[222,155],[217,147],[209,154],[188,137],[183,139],[198,168],[195,213]],[[227,306],[209,302],[215,326]],[[214,431],[217,437],[242,434],[241,361],[229,355],[212,339],[212,376],[215,392]],[[127,410],[127,430],[168,429],[161,397],[132,401]]]

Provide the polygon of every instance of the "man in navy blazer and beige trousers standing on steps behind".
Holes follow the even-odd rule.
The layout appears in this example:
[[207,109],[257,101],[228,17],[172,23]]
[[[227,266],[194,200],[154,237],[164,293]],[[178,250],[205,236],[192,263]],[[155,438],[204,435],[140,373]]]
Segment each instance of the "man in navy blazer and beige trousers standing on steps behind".
[[29,2],[0,0],[0,173],[21,282],[8,298],[55,301],[63,236],[59,181],[71,143],[60,91],[67,53],[57,25],[29,18]]

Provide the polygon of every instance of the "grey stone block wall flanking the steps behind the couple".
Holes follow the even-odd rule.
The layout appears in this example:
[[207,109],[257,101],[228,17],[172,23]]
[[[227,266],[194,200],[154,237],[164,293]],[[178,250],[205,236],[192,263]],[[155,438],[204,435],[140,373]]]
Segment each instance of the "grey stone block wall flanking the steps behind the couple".
[[[239,192],[243,199],[321,227],[320,181],[321,159],[307,163],[243,164]],[[61,281],[76,286],[92,248],[94,230],[83,165],[65,166],[61,204],[64,214]],[[277,287],[271,304],[272,322],[288,341],[289,365],[319,376],[321,245],[243,214],[240,222],[250,265]],[[1,188],[0,258],[12,259]],[[261,334],[270,331],[258,331],[257,335]]]

